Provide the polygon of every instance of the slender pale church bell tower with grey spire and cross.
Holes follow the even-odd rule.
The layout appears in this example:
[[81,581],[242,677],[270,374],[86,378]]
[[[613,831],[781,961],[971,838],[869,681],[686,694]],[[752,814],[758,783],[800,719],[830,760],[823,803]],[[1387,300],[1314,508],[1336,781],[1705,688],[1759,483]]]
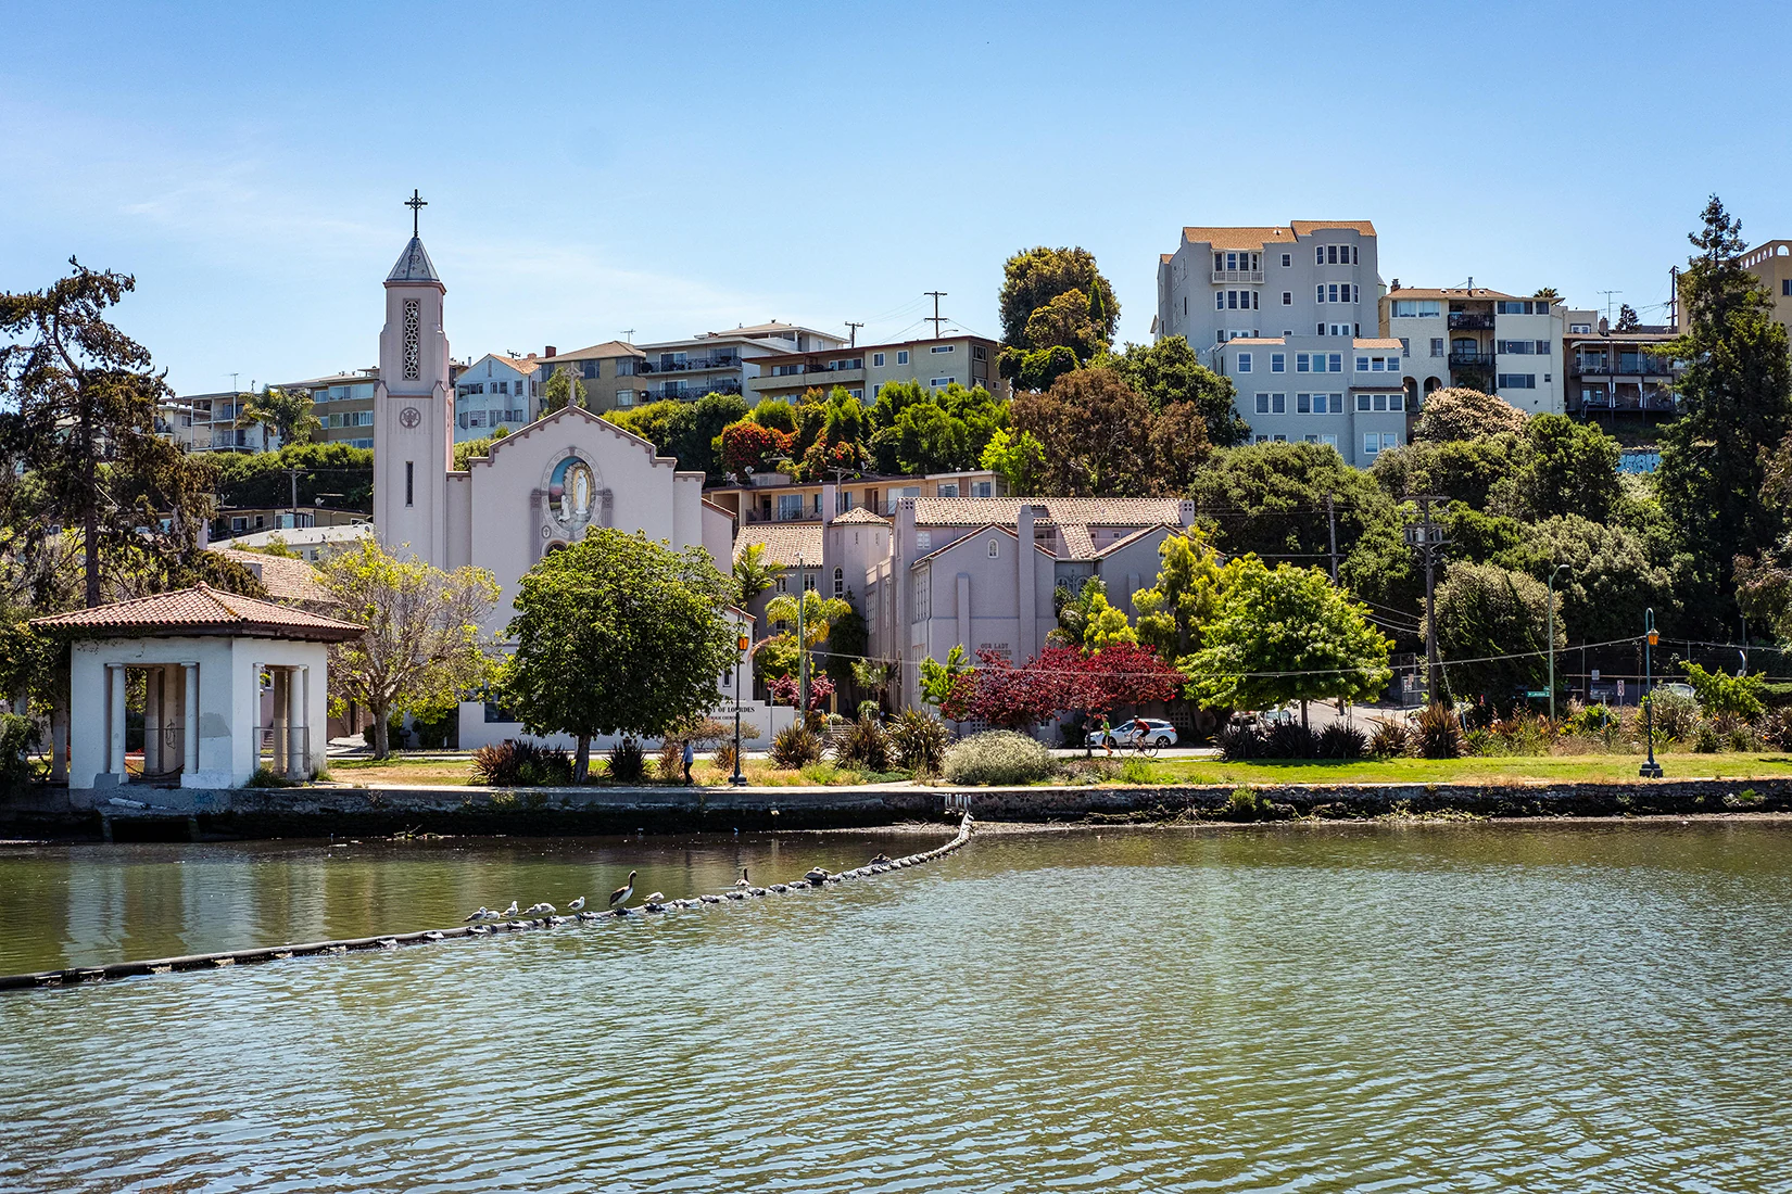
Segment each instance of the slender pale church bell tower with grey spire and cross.
[[448,564],[448,469],[453,464],[453,380],[443,333],[443,286],[418,236],[385,276],[380,381],[373,394],[373,523],[380,542],[434,567]]

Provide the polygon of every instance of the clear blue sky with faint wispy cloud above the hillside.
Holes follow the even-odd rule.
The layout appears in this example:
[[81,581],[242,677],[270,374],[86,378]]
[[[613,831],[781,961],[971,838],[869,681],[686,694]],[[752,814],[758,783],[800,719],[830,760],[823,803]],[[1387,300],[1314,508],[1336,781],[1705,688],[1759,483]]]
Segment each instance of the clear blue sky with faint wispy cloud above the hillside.
[[[1082,245],[1149,340],[1186,224],[1369,218],[1383,279],[1665,320],[1708,195],[1792,236],[1792,5],[0,0],[0,290],[70,256],[177,392],[767,319],[996,337]],[[1778,66],[1774,63],[1779,63]],[[1613,306],[1613,310],[1616,310]],[[235,374],[235,381],[233,381]]]

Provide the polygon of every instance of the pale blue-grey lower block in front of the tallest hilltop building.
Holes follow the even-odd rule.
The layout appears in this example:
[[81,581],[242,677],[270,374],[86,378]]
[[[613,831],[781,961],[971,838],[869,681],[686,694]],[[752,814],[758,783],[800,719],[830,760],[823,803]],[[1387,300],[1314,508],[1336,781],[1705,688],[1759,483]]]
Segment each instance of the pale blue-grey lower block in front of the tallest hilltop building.
[[1258,444],[1330,444],[1349,464],[1369,467],[1407,442],[1400,340],[1240,337],[1217,345],[1213,371],[1231,378],[1236,406]]

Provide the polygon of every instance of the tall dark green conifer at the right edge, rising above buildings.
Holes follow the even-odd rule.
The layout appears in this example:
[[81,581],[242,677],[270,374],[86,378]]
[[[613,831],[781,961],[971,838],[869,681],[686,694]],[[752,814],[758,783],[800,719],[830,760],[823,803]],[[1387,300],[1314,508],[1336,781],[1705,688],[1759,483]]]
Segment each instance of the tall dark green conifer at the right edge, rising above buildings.
[[1686,362],[1683,414],[1661,431],[1656,489],[1692,560],[1699,601],[1731,621],[1735,559],[1756,557],[1785,526],[1762,501],[1769,453],[1792,433],[1792,362],[1772,299],[1747,269],[1742,226],[1713,195],[1699,249],[1681,274],[1683,331],[1661,345]]

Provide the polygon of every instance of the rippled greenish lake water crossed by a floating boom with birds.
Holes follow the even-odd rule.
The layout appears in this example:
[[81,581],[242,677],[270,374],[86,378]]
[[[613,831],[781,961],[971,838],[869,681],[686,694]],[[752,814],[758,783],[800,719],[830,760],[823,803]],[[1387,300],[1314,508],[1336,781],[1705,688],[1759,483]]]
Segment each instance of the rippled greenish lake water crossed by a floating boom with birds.
[[[0,968],[889,845],[0,854]],[[0,1189],[1792,1190],[1788,845],[982,836],[658,920],[4,995]]]

